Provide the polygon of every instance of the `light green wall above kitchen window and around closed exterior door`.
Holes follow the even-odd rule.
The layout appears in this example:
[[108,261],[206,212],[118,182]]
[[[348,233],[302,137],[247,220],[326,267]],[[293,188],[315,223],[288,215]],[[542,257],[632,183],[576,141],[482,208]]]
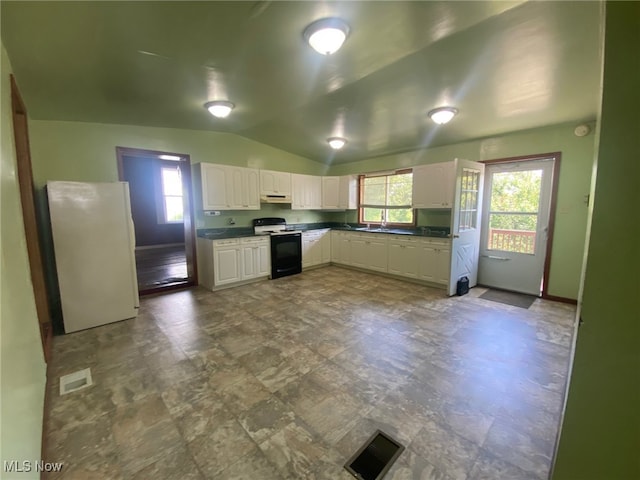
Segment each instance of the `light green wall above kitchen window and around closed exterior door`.
[[[555,234],[549,272],[549,294],[577,299],[587,226],[585,196],[589,193],[594,158],[594,125],[585,137],[573,134],[575,124],[517,132],[495,138],[430,148],[335,165],[330,175],[374,172],[464,158],[492,160],[561,152]],[[420,225],[446,225],[446,214],[419,212]]]

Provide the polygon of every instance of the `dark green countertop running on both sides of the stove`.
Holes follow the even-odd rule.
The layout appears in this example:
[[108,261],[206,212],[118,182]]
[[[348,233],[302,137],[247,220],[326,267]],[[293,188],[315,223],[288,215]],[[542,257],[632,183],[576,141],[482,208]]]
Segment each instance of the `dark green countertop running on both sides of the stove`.
[[[418,227],[418,228],[370,228],[359,224],[345,224],[338,222],[323,223],[295,223],[287,225],[292,230],[303,232],[311,230],[341,230],[345,232],[382,233],[387,235],[414,236],[428,238],[449,238],[448,227]],[[222,240],[227,238],[253,237],[253,227],[229,227],[229,228],[202,228],[197,232],[200,238],[209,240]]]

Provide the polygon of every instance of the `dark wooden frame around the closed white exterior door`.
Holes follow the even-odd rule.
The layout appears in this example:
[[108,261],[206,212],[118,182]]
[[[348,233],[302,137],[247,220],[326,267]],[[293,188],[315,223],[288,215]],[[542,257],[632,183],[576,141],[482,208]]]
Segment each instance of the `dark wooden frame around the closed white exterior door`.
[[558,204],[558,183],[560,178],[560,162],[562,160],[561,152],[541,153],[535,155],[523,155],[519,157],[499,158],[495,160],[482,160],[485,165],[493,165],[497,163],[519,163],[529,162],[532,160],[553,160],[553,178],[551,179],[551,198],[549,199],[549,225],[547,230],[547,246],[544,258],[544,269],[542,273],[542,296],[545,300],[554,300],[564,303],[576,303],[576,300],[565,297],[557,297],[549,295],[549,271],[551,269],[551,250],[553,247],[553,234],[556,222],[556,208]]

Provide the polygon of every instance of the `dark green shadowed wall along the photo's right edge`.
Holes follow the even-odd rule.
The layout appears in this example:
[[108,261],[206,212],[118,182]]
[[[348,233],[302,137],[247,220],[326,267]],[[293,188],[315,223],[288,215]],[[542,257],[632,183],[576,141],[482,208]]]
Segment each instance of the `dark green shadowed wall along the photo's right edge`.
[[593,215],[554,480],[640,478],[640,3],[607,2]]

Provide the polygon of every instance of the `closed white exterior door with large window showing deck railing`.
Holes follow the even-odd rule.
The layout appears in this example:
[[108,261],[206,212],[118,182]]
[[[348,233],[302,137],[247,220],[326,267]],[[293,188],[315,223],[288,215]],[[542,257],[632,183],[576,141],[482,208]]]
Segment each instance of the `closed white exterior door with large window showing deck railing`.
[[553,159],[487,166],[482,285],[539,296],[547,248]]

